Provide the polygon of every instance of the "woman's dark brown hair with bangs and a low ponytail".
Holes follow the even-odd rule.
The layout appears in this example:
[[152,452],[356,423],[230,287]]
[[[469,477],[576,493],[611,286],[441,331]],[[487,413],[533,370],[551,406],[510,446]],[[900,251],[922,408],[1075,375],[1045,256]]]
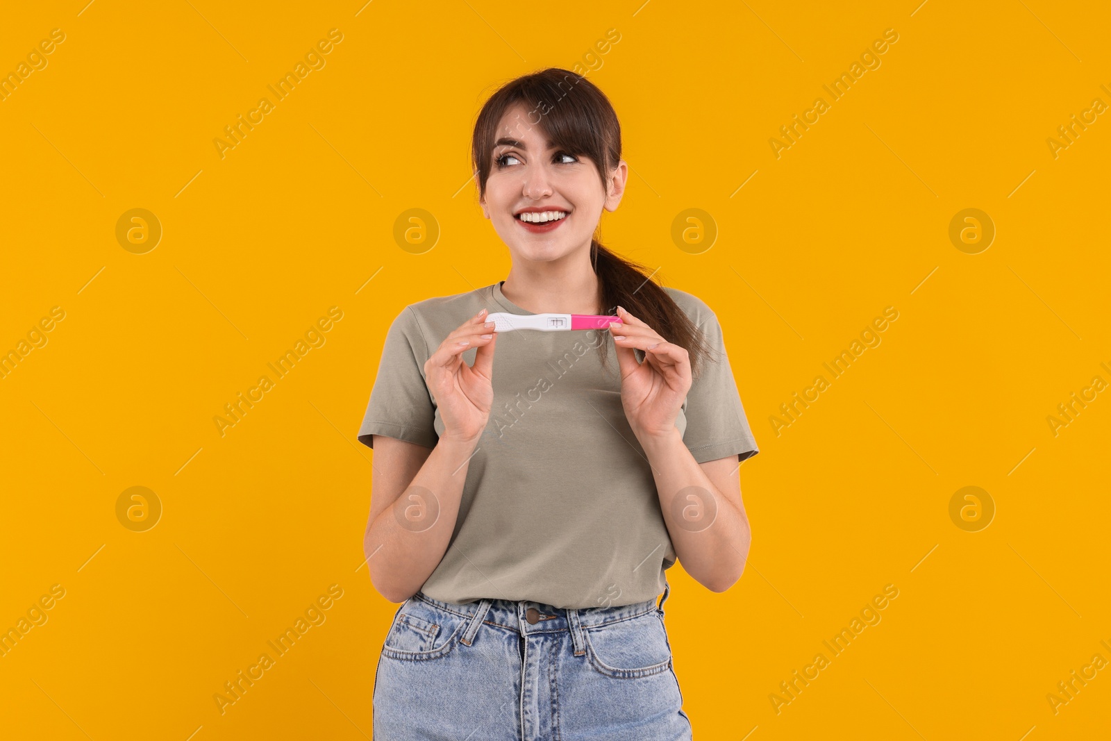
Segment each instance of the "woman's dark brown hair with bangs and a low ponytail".
[[[487,179],[493,166],[493,142],[498,123],[514,103],[531,110],[524,126],[539,126],[551,146],[574,157],[587,157],[598,168],[602,189],[609,192],[607,174],[621,161],[621,124],[605,94],[594,83],[574,72],[556,67],[526,74],[499,88],[482,106],[474,123],[471,159],[478,177],[479,193],[486,196]],[[532,118],[539,116],[539,120]],[[668,342],[684,348],[691,372],[699,374],[712,348],[702,332],[687,317],[663,288],[644,272],[644,266],[611,252],[598,240],[601,224],[590,241],[590,260],[598,276],[603,311],[614,312],[620,304],[648,323]],[[608,343],[599,346],[605,364]]]

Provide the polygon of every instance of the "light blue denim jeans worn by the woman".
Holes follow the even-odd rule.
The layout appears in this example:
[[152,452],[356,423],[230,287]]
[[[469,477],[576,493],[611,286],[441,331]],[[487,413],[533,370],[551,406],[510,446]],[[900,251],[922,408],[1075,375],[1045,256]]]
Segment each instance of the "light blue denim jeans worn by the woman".
[[659,607],[579,610],[418,591],[378,660],[374,741],[690,740],[663,623],[670,590]]

